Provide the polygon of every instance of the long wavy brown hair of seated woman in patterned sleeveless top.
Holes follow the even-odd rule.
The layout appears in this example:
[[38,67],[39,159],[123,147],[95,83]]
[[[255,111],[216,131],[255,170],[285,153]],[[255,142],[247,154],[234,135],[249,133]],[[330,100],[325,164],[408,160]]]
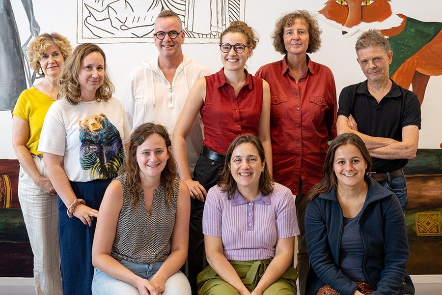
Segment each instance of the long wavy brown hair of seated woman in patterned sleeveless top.
[[176,177],[176,162],[169,152],[168,148],[172,146],[169,134],[163,125],[154,123],[144,123],[137,127],[131,134],[129,141],[129,150],[127,151],[126,162],[123,166],[123,173],[127,173],[127,182],[129,184],[129,191],[134,196],[133,206],[135,207],[138,203],[139,194],[138,190],[141,186],[141,180],[139,177],[139,167],[137,162],[137,148],[144,143],[147,137],[152,134],[160,135],[165,143],[167,154],[169,158],[167,159],[166,167],[161,172],[161,184],[164,186],[167,192],[166,206],[168,206],[169,201],[172,199],[173,194],[173,179]]

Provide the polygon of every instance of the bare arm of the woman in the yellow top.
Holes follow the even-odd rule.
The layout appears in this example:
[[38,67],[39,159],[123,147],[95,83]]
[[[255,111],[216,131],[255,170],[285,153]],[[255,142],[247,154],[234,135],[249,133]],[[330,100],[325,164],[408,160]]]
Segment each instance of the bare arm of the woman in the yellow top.
[[38,187],[49,194],[56,195],[55,189],[49,178],[42,177],[38,173],[32,155],[26,147],[28,139],[29,122],[25,119],[14,116],[12,118],[12,147],[14,148],[15,155],[17,156],[20,165]]

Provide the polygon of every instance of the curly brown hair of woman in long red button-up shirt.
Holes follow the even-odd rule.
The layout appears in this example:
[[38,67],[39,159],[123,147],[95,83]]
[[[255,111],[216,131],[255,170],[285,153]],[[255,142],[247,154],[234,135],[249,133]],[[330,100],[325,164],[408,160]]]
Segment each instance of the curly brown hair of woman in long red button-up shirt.
[[306,10],[295,10],[280,17],[275,23],[275,30],[272,34],[273,46],[280,54],[287,54],[284,45],[284,28],[291,27],[296,19],[303,20],[308,27],[308,48],[307,53],[314,53],[321,47],[321,33],[318,21]]

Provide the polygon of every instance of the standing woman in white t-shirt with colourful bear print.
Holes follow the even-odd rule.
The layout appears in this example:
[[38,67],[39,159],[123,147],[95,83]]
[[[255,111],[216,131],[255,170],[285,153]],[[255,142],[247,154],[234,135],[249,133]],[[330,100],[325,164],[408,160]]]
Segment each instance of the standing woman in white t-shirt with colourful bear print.
[[[59,81],[60,100],[46,115],[38,150],[58,199],[64,295],[91,294],[94,217],[124,163],[129,124],[112,97],[106,56],[95,44],[77,46]],[[75,218],[72,218],[75,217]]]

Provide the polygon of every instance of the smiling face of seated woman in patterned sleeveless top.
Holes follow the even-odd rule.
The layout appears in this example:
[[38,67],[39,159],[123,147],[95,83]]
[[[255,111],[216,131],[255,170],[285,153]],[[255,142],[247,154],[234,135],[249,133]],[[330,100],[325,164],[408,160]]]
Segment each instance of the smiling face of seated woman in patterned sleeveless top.
[[158,133],[149,135],[137,147],[137,163],[141,178],[161,177],[166,167],[171,147],[166,147],[166,141]]

